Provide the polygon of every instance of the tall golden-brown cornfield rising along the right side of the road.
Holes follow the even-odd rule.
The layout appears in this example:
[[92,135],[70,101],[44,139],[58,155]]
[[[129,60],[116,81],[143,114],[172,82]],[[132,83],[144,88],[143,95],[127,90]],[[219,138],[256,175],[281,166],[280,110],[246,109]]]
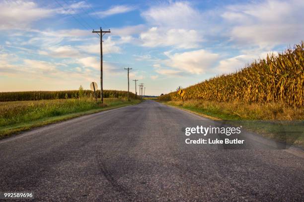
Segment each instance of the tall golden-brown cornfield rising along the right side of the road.
[[[205,101],[276,102],[304,105],[304,42],[275,56],[268,54],[231,74],[216,76],[185,90],[184,99]],[[180,100],[177,92],[159,100]]]

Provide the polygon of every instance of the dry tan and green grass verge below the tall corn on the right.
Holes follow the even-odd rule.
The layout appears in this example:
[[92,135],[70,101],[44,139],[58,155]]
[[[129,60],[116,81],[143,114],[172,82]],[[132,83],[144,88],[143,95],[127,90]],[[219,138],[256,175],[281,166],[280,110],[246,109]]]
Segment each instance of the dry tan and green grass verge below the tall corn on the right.
[[212,120],[242,125],[246,130],[289,145],[304,147],[304,108],[281,104],[216,101],[160,101]]

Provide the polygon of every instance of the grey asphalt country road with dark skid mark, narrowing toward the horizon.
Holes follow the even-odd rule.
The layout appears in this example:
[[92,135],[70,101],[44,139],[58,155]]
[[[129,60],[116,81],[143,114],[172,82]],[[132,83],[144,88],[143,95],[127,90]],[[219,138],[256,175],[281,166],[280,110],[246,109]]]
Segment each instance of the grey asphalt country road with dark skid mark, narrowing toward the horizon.
[[185,144],[185,127],[209,122],[144,101],[24,132],[0,141],[0,191],[44,202],[304,201],[304,158],[255,140],[250,150]]

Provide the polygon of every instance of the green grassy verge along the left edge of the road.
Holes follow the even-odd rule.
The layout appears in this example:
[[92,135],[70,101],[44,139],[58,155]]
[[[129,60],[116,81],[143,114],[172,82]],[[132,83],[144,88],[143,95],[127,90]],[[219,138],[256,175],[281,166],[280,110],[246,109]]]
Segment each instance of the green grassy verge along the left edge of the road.
[[104,104],[93,99],[0,102],[0,139],[34,127],[139,102],[115,98],[104,99]]

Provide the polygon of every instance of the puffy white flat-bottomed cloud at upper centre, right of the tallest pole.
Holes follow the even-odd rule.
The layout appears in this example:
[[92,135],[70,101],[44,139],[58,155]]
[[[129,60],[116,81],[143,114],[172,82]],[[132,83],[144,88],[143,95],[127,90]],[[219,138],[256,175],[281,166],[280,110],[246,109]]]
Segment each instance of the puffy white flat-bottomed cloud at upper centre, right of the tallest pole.
[[202,41],[195,30],[169,29],[163,32],[157,27],[141,33],[140,39],[145,47],[174,46],[183,49],[197,48]]

